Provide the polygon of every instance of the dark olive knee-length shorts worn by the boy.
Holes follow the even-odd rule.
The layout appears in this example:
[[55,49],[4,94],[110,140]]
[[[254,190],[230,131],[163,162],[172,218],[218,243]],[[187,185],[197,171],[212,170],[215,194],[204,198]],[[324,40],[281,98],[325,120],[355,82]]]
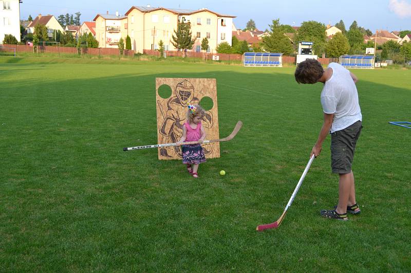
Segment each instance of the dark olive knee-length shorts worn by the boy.
[[359,120],[343,130],[331,133],[331,169],[333,173],[348,174],[351,172],[352,159],[361,128]]

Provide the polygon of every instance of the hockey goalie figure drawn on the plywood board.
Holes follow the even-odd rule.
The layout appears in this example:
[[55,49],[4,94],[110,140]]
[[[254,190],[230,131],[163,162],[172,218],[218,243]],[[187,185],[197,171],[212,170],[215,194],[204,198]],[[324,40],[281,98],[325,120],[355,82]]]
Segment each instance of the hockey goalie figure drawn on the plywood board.
[[[163,112],[160,101],[157,104],[163,116],[163,121],[160,126],[159,133],[162,135],[161,143],[175,143],[183,134],[183,126],[185,122],[185,113],[189,104],[198,105],[200,100],[195,96],[193,84],[188,80],[180,81],[175,88],[175,95],[167,101],[167,111]],[[213,127],[213,114],[206,111],[201,124],[204,128],[211,129]],[[209,143],[202,145],[204,154],[212,153],[212,147]],[[177,154],[181,157],[179,146],[170,146],[160,149],[160,155],[164,157],[173,157]]]

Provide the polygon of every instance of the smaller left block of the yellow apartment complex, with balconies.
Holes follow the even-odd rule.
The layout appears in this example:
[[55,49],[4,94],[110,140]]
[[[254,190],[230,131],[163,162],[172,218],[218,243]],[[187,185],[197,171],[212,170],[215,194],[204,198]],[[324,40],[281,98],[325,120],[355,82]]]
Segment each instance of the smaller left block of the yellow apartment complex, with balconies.
[[121,16],[118,12],[113,14],[97,14],[96,39],[101,48],[118,48],[120,38],[127,37],[127,16]]

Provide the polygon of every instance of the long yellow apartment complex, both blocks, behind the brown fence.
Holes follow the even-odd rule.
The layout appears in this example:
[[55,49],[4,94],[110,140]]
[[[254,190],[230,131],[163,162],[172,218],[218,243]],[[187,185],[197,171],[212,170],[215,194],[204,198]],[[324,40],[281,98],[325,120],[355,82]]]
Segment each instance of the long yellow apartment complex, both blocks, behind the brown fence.
[[185,10],[133,6],[125,16],[98,14],[96,38],[100,47],[117,47],[120,36],[125,40],[130,36],[132,49],[143,52],[144,49],[158,49],[160,40],[165,50],[176,50],[171,43],[178,22],[190,22],[195,44],[192,51],[201,51],[201,41],[206,37],[209,49],[215,50],[222,41],[231,45],[232,24],[235,16],[223,15],[208,9]]

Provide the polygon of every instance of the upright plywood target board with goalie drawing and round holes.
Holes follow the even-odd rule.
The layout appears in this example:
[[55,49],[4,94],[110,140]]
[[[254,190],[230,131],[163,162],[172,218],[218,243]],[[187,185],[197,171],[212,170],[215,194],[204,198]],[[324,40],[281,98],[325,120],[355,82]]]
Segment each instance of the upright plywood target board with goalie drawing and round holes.
[[[162,92],[159,94],[160,89],[170,92],[166,95]],[[219,138],[216,79],[156,78],[157,138],[159,144],[175,143],[180,140],[189,104],[200,105],[206,111],[206,115],[201,120],[207,133],[206,139]],[[202,144],[202,148],[206,158],[220,157],[219,142]],[[159,148],[158,159],[181,159],[181,148],[179,146]]]

